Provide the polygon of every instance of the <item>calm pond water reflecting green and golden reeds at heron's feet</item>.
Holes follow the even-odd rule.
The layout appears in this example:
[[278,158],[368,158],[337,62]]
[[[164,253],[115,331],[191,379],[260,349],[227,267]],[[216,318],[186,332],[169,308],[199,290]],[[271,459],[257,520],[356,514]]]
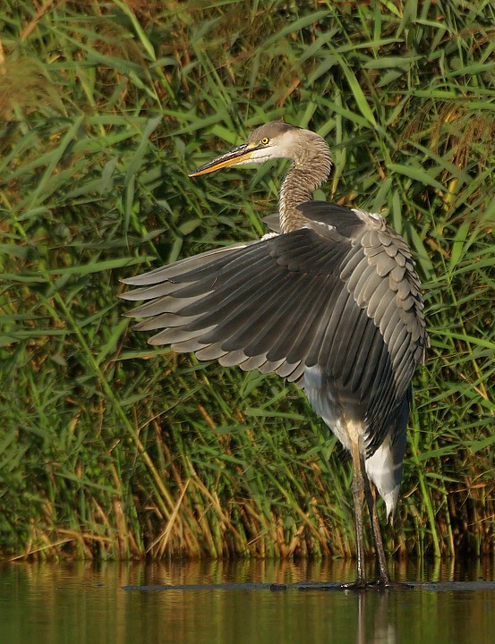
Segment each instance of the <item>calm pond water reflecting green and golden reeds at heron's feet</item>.
[[[470,570],[396,566],[396,579],[493,579]],[[290,584],[353,580],[342,562],[173,562],[0,566],[0,631],[9,644],[485,644],[495,632],[495,584],[475,590],[343,592],[289,589],[127,591],[125,586]],[[430,588],[430,589],[429,589]]]

